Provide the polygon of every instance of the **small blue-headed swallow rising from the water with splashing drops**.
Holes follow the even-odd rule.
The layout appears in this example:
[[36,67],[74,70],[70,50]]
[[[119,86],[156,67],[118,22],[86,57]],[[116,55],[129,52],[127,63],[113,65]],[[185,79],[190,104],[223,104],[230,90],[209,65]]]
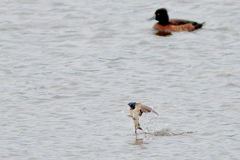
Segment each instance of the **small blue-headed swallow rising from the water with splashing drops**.
[[137,134],[137,129],[142,130],[139,124],[139,116],[142,115],[142,113],[147,113],[147,112],[153,112],[158,115],[156,111],[154,111],[152,108],[142,105],[141,103],[136,103],[136,102],[130,102],[128,103],[130,107],[130,115],[129,117],[132,117],[134,125],[135,125],[135,133]]

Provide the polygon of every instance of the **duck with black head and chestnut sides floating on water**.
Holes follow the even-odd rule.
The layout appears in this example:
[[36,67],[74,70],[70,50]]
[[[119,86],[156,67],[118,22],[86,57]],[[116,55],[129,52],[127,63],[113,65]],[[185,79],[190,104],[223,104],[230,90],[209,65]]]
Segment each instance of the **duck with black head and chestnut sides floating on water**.
[[[153,19],[153,18],[152,18]],[[160,8],[155,12],[155,20],[158,21],[153,28],[158,31],[166,33],[181,32],[181,31],[194,31],[202,28],[203,23],[197,23],[195,21],[188,21],[182,19],[169,20],[168,12],[166,8]]]

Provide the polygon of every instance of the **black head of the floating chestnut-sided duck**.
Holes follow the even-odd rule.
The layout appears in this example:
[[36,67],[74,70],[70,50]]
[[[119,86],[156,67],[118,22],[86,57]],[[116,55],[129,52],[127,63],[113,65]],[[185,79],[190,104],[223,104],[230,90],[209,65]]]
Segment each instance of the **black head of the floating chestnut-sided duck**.
[[166,26],[169,24],[169,17],[167,13],[167,9],[160,8],[155,12],[155,19],[158,21],[159,24]]

